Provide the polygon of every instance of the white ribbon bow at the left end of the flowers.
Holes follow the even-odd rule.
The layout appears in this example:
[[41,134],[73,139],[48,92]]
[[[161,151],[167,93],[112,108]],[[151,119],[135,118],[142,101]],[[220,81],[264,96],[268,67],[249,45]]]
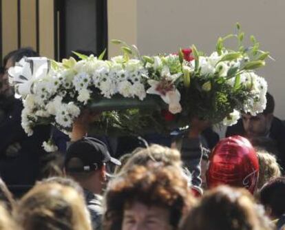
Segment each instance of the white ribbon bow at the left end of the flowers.
[[50,70],[50,61],[45,57],[24,57],[8,70],[9,83],[15,86],[20,97],[32,93],[34,81],[43,79]]

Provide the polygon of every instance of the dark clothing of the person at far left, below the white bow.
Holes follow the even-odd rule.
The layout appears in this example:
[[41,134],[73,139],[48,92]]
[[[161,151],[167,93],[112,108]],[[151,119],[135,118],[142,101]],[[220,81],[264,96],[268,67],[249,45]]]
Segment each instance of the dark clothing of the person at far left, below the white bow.
[[[37,126],[28,136],[21,127],[22,102],[14,99],[11,109],[5,111],[0,123],[0,176],[7,185],[32,185],[39,176],[40,157],[45,153],[41,147],[50,136],[50,127]],[[6,156],[6,149],[19,143],[17,156]]]

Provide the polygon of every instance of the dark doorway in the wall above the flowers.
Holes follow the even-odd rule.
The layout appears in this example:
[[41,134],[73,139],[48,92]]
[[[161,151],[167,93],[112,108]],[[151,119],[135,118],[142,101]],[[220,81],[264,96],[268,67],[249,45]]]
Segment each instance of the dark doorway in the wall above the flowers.
[[57,59],[107,48],[107,0],[56,0],[54,21]]

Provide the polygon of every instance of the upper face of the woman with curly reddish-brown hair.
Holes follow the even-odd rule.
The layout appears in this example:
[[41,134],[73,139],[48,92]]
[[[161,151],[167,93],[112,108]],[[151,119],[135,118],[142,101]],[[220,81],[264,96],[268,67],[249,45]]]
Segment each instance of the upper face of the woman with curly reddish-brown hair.
[[125,207],[123,213],[123,230],[171,230],[169,224],[169,210],[157,206],[146,206],[140,202],[134,202]]

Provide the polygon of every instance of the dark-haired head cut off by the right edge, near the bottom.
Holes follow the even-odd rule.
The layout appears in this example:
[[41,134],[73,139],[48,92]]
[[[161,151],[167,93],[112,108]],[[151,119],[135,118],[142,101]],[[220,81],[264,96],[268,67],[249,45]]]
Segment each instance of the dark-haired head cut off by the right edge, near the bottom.
[[280,218],[285,213],[285,177],[274,178],[260,189],[260,202],[271,218]]

